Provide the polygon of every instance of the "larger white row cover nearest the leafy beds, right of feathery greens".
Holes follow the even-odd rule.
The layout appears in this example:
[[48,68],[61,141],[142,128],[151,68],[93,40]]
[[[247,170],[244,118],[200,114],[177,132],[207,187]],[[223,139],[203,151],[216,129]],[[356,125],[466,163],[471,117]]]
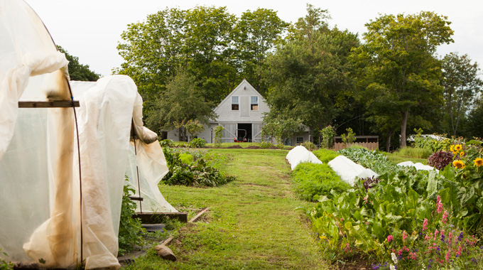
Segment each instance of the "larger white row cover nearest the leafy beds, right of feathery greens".
[[354,163],[349,158],[345,156],[337,156],[336,158],[329,161],[329,166],[332,170],[340,176],[345,183],[349,185],[354,185],[356,177],[368,178],[368,177],[378,177],[379,175],[369,168],[364,168],[362,165]]

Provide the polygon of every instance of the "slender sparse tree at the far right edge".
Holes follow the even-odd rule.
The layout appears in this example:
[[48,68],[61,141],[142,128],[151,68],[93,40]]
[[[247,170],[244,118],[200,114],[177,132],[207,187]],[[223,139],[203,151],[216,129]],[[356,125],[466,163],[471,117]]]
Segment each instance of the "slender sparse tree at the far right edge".
[[443,58],[445,109],[453,136],[456,136],[461,119],[482,93],[483,81],[479,79],[478,71],[478,64],[471,63],[466,54],[459,56],[457,53],[450,53]]

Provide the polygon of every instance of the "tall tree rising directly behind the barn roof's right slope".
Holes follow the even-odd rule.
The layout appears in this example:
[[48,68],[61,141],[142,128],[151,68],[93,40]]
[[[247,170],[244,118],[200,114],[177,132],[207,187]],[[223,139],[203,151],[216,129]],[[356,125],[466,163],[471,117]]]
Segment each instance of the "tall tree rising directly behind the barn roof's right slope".
[[272,53],[282,34],[289,26],[271,9],[257,9],[241,14],[234,27],[234,48],[239,61],[241,76],[245,77],[262,95],[266,85],[261,82],[260,72],[264,60]]

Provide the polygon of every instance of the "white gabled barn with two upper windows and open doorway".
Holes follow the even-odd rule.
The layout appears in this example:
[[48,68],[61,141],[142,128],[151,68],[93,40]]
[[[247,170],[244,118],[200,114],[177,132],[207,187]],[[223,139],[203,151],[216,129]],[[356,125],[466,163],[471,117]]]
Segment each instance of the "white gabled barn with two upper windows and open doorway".
[[[264,97],[255,90],[245,79],[223,99],[214,110],[217,119],[212,119],[205,131],[198,134],[198,138],[205,139],[207,143],[214,140],[215,126],[223,126],[224,143],[237,141],[261,141],[261,126],[266,113],[270,108]],[[308,130],[307,130],[308,131]],[[179,141],[178,130],[167,132],[167,139]],[[308,141],[308,132],[293,136],[286,144],[296,145]]]

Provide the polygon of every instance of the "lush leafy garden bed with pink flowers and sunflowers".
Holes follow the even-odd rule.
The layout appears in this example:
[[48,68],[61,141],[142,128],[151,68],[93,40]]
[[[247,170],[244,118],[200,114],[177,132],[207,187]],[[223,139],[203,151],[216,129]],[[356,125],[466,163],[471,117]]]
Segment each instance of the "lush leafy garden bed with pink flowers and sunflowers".
[[[483,269],[483,159],[453,146],[444,171],[398,167],[364,149],[341,151],[380,174],[305,210],[334,258],[369,254],[373,269]],[[364,185],[365,184],[365,185]]]

